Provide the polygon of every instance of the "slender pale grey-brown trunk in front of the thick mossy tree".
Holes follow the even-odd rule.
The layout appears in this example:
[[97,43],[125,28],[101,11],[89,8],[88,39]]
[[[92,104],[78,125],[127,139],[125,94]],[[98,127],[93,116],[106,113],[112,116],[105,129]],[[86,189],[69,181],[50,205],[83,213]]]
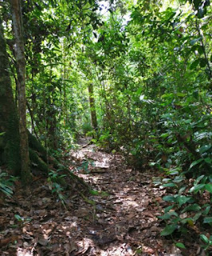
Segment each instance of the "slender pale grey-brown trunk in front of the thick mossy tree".
[[29,171],[29,146],[26,130],[26,62],[24,53],[24,38],[22,26],[22,10],[20,0],[10,0],[15,38],[15,54],[17,61],[18,77],[18,113],[19,113],[19,134],[20,153],[22,166],[22,182],[27,184],[30,180]]

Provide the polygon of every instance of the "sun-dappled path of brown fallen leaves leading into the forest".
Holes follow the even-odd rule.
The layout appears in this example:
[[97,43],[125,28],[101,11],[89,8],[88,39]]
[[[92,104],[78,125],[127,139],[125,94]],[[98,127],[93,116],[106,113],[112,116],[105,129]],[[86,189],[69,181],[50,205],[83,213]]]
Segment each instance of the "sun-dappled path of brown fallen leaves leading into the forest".
[[155,172],[132,170],[120,154],[105,153],[86,139],[72,158],[83,166],[76,174],[94,190],[88,199],[95,204],[84,203],[76,213],[85,221],[85,255],[182,255],[159,235],[165,190],[153,186]]

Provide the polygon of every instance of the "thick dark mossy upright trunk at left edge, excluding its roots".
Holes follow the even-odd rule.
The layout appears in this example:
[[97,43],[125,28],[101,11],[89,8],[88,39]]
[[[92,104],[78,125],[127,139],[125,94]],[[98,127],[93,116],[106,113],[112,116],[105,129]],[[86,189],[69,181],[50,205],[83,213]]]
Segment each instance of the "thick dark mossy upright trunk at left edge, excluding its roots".
[[9,74],[9,60],[6,54],[2,20],[0,19],[0,162],[13,175],[21,172],[20,138],[18,130],[18,114],[14,104],[14,95]]

